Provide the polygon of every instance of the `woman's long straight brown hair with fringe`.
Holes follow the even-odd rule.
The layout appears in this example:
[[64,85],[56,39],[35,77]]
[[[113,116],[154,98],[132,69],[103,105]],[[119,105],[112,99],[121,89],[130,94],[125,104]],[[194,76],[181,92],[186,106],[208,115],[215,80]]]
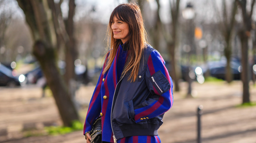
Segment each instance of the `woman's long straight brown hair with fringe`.
[[[128,3],[118,5],[111,13],[109,24],[108,24],[108,52],[106,67],[104,68],[103,74],[109,70],[117,53],[117,48],[122,42],[120,39],[114,38],[114,33],[111,29],[111,24],[117,17],[118,20],[124,21],[129,25],[129,33],[127,35],[128,40],[125,44],[129,45],[128,48],[128,59],[126,61],[122,75],[129,72],[128,80],[135,81],[139,72],[139,62],[143,55],[143,49],[147,43],[147,34],[144,28],[144,23],[140,8],[137,4]],[[109,39],[110,44],[109,44]],[[106,54],[106,55],[107,55]]]

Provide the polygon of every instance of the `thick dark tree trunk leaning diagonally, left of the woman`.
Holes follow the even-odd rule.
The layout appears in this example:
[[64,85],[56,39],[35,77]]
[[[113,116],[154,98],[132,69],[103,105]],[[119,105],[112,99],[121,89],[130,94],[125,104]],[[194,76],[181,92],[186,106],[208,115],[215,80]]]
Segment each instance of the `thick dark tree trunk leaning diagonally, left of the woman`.
[[[47,84],[53,92],[63,124],[71,126],[72,121],[78,120],[79,116],[56,64],[57,30],[56,27],[54,28],[53,17],[49,14],[52,11],[49,4],[53,4],[53,0],[17,0],[17,2],[24,11],[26,21],[31,28],[34,41],[33,54],[39,61]],[[67,35],[63,34],[63,36]]]

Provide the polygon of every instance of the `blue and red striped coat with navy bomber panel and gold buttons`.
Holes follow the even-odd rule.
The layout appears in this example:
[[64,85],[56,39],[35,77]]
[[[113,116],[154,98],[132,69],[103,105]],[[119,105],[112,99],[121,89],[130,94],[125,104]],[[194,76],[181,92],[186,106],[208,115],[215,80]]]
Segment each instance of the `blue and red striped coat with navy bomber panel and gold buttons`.
[[136,81],[128,81],[129,74],[118,81],[120,51],[121,45],[110,69],[102,74],[104,62],[86,115],[84,134],[92,130],[101,114],[102,141],[114,142],[114,136],[118,143],[160,142],[162,117],[173,104],[173,84],[165,62],[157,50],[147,45]]

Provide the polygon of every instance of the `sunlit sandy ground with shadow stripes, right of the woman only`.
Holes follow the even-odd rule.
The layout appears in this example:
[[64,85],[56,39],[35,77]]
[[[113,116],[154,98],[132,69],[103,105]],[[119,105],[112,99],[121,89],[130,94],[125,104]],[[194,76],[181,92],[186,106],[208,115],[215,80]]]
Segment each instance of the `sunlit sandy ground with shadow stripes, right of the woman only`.
[[[181,86],[186,87],[186,86]],[[256,143],[256,106],[237,108],[242,103],[242,83],[194,84],[196,99],[183,99],[182,90],[175,96],[172,109],[165,114],[159,131],[163,143],[197,142],[198,105],[203,105],[203,143]],[[256,101],[255,87],[250,89],[251,101]],[[161,137],[160,136],[160,137]]]

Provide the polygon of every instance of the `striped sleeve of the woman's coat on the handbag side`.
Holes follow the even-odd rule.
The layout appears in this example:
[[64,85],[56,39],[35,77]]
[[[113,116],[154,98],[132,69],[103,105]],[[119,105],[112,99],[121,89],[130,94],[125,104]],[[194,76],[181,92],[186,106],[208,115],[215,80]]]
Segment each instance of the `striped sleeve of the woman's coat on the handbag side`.
[[101,111],[101,92],[100,92],[101,90],[100,90],[100,88],[103,83],[102,79],[103,79],[104,74],[102,74],[102,72],[106,66],[106,61],[107,61],[107,57],[104,61],[103,68],[100,72],[98,82],[96,84],[96,87],[93,92],[93,96],[91,98],[91,101],[90,101],[90,104],[88,107],[88,111],[87,111],[87,115],[86,115],[85,123],[84,123],[84,130],[83,130],[84,135],[92,130],[92,125],[93,125],[94,121],[97,119],[97,117],[99,117],[99,114]]

